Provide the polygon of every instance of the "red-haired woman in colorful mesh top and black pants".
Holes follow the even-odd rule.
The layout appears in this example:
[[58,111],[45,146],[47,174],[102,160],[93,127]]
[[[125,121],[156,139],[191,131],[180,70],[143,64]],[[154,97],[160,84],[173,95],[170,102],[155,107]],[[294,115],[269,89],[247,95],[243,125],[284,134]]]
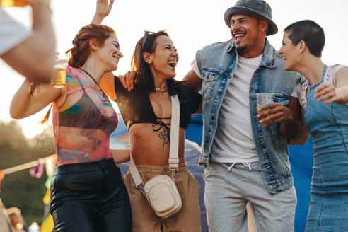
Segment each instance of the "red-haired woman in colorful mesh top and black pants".
[[115,165],[129,159],[129,149],[110,149],[118,119],[99,86],[123,54],[105,25],[84,26],[73,44],[66,86],[35,86],[26,79],[13,97],[11,117],[28,117],[52,103],[58,157],[51,181],[54,231],[131,231],[129,196]]

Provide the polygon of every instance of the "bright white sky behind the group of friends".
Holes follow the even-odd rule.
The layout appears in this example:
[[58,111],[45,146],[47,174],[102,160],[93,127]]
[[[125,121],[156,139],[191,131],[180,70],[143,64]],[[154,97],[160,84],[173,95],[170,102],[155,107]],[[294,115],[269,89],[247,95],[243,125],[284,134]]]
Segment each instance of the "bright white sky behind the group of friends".
[[[144,30],[168,30],[179,53],[176,79],[182,79],[190,70],[195,52],[205,45],[231,38],[224,23],[224,12],[236,1],[231,0],[115,0],[112,12],[103,24],[117,33],[124,57],[120,59],[115,74],[129,70],[134,46]],[[326,64],[348,64],[348,1],[347,0],[268,0],[272,18],[279,28],[277,35],[269,38],[279,49],[282,30],[295,21],[311,19],[321,25],[326,35],[323,61]],[[17,21],[31,27],[30,8],[8,8]],[[52,0],[52,17],[56,28],[57,52],[71,48],[71,41],[79,29],[91,22],[95,12],[95,0]],[[0,91],[0,119],[10,120],[9,105],[23,77],[12,71],[0,60],[2,85]],[[6,83],[6,84],[5,84]],[[114,105],[117,108],[117,105]],[[42,120],[47,110],[19,120],[28,137],[42,132]]]

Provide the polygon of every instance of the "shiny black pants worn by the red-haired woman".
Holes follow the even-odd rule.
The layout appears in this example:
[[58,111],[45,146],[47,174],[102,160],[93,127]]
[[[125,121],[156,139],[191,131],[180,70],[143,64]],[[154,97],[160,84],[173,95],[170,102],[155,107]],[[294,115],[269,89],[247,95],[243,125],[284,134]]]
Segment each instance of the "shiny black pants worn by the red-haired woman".
[[51,181],[54,231],[132,231],[120,168],[112,159],[58,166]]

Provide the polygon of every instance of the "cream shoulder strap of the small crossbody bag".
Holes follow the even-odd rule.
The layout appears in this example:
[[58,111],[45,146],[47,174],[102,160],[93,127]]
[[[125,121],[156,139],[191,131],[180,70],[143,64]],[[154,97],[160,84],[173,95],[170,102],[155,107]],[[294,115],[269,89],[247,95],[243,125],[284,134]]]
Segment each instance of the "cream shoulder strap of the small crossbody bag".
[[[172,117],[170,122],[170,151],[168,163],[170,170],[178,170],[180,104],[178,95],[173,95],[170,98],[172,100]],[[129,170],[134,180],[135,187],[140,188],[141,192],[143,192],[144,190],[142,189],[142,185],[144,185],[144,182],[143,180],[141,180],[137,166],[135,166],[134,160],[132,158],[132,153],[130,155]]]

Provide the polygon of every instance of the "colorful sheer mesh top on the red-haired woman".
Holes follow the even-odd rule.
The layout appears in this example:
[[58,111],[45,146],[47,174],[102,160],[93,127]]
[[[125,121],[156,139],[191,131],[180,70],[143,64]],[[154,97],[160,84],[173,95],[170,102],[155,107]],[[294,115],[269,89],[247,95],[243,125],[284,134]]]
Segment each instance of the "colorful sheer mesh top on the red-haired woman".
[[112,158],[110,134],[118,118],[106,95],[83,71],[68,66],[66,99],[53,102],[57,165]]

